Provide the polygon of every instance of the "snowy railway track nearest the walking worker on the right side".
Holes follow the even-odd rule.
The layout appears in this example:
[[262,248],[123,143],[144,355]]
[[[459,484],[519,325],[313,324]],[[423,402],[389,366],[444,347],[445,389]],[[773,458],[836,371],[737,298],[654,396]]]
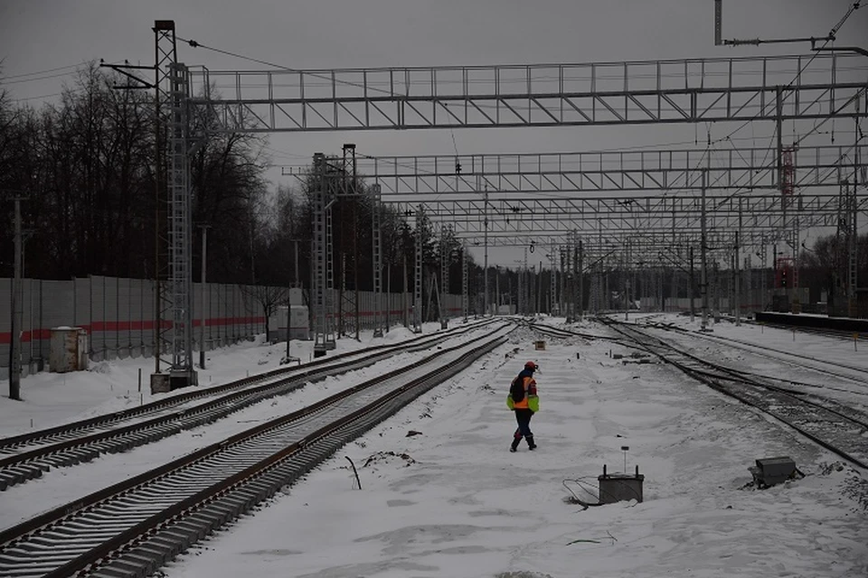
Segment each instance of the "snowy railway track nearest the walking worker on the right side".
[[827,399],[816,400],[805,392],[769,383],[761,376],[701,359],[634,325],[613,320],[603,322],[686,375],[775,417],[826,450],[868,469],[868,415],[862,411]]

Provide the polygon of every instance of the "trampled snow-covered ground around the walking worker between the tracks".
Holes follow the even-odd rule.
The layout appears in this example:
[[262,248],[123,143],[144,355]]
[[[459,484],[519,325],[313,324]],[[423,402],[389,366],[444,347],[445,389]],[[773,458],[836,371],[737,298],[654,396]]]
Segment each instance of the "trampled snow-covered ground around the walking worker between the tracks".
[[[683,317],[662,319],[687,323]],[[581,331],[606,333],[593,322]],[[715,333],[868,369],[868,355],[854,354],[852,343],[846,351],[846,342],[833,338],[798,334],[793,341],[791,331],[725,323]],[[612,359],[609,352],[618,346],[610,342],[545,338],[546,350],[535,351],[534,339],[538,336],[530,331],[516,331],[510,344],[484,362],[348,444],[306,480],[195,546],[165,573],[172,578],[868,575],[865,472],[673,369]],[[758,372],[796,371],[733,353],[723,344],[697,340],[696,346],[721,359],[738,357],[743,368]],[[245,374],[244,362],[274,367],[256,365],[266,349],[251,345],[258,353],[226,365],[214,353],[211,365],[214,371],[231,367],[236,377]],[[541,366],[542,408],[532,422],[540,447],[529,452],[523,445],[510,453],[514,417],[505,394],[526,359]],[[329,387],[343,387],[343,381],[335,379]],[[74,393],[70,388],[70,396]],[[865,403],[858,393],[851,398]],[[7,403],[3,400],[0,409]],[[50,420],[37,411],[33,415]],[[629,447],[627,470],[638,465],[646,476],[643,503],[583,510],[565,501],[570,493],[563,480],[579,480],[567,484],[593,501],[603,464],[609,471],[624,469],[622,446]],[[747,468],[758,458],[778,455],[791,456],[807,476],[753,489]],[[362,489],[345,456],[358,466]],[[91,487],[99,485],[98,473],[88,473],[88,467],[69,470],[81,469]]]

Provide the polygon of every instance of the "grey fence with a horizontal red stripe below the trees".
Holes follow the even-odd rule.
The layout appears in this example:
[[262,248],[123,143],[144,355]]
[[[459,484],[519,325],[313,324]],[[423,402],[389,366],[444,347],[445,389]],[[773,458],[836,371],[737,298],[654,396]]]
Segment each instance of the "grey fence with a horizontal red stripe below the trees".
[[[0,379],[8,379],[12,341],[13,280],[0,279]],[[265,312],[255,298],[256,289],[237,284],[193,284],[193,349],[199,350],[204,313],[204,347],[213,350],[265,332]],[[338,303],[335,291],[332,303]],[[290,301],[304,304],[300,290]],[[383,303],[383,321],[390,325],[412,322],[412,295],[391,294]],[[449,316],[461,313],[461,296],[447,295]],[[52,327],[74,326],[88,331],[91,360],[151,357],[154,352],[155,284],[147,279],[92,275],[71,281],[24,279],[18,309],[22,327],[22,373],[47,369]],[[354,311],[344,312],[353,322]],[[359,323],[373,328],[373,292],[360,292]]]

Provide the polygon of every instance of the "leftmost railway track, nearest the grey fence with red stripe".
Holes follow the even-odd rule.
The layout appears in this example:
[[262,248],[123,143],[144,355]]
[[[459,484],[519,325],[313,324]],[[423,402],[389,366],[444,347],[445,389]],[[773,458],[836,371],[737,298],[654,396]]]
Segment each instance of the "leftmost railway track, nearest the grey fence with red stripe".
[[[147,406],[2,439],[0,491],[42,477],[43,472],[52,468],[91,461],[105,453],[126,452],[169,435],[210,424],[269,397],[284,395],[307,383],[373,365],[401,352],[429,350],[444,340],[462,336],[489,323],[443,331],[399,345],[381,345],[363,352],[344,353],[327,361],[317,360],[298,368],[280,368],[208,390],[158,400]],[[190,405],[203,398],[208,399]]]

